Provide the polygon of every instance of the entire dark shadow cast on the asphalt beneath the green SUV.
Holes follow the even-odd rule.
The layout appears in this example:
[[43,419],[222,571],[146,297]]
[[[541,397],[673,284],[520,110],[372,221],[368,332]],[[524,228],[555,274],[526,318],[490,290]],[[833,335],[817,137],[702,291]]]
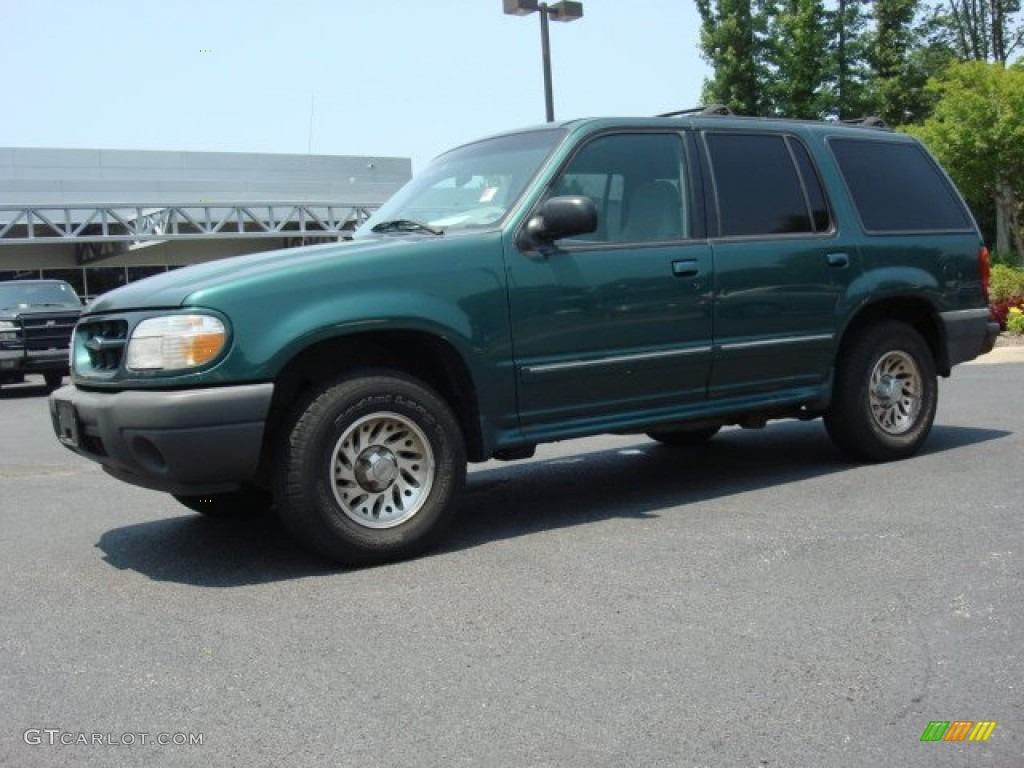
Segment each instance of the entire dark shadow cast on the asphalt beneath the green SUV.
[[[998,439],[993,429],[936,426],[923,456]],[[911,460],[912,461],[912,460]],[[470,472],[459,513],[435,553],[453,553],[610,518],[854,471],[820,424],[728,430],[705,446],[671,449],[643,437],[623,446]],[[272,515],[185,515],[104,532],[103,559],[156,581],[241,587],[343,572],[294,544]]]

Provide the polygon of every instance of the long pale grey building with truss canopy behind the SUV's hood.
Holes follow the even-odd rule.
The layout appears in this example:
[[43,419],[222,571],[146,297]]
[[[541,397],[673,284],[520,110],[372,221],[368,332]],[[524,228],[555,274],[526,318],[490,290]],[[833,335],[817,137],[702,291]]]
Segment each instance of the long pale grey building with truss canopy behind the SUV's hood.
[[406,158],[0,147],[0,280],[83,297],[185,264],[343,238]]

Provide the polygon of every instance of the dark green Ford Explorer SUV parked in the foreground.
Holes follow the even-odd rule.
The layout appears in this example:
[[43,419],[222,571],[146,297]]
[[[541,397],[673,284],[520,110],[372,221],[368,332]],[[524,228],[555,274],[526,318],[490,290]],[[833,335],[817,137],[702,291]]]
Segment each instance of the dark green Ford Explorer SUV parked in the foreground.
[[54,430],[208,514],[275,508],[345,563],[408,557],[466,463],[602,432],[690,445],[823,417],[916,451],[987,352],[988,256],[952,183],[879,127],[575,120],[440,156],[352,242],[105,294]]

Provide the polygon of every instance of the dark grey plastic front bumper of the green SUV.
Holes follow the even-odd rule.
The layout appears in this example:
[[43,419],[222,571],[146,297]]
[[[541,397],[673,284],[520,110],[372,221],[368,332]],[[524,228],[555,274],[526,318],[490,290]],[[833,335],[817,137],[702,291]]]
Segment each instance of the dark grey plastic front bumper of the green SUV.
[[184,496],[233,490],[256,474],[273,384],[50,395],[57,439],[126,482]]

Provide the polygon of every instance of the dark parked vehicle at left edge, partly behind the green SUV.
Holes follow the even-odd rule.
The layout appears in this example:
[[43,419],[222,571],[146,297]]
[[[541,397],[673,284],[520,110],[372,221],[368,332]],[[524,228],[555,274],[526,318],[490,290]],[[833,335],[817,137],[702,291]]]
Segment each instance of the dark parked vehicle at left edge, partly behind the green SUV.
[[0,283],[0,385],[41,374],[55,389],[68,375],[68,347],[82,301],[59,280]]

